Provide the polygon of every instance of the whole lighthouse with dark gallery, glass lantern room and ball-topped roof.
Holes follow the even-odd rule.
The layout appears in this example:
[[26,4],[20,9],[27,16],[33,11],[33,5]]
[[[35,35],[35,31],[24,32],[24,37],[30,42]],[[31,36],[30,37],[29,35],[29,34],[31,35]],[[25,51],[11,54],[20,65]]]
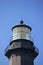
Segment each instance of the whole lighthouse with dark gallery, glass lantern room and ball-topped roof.
[[23,21],[12,28],[12,41],[5,49],[9,65],[34,65],[34,59],[39,53],[31,40],[31,31],[32,28]]

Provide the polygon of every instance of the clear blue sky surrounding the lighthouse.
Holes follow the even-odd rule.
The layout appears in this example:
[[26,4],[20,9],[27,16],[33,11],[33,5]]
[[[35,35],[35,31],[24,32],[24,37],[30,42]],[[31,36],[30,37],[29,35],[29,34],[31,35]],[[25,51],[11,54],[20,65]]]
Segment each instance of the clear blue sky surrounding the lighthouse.
[[11,41],[11,28],[23,20],[32,27],[32,38],[39,49],[35,65],[43,65],[43,0],[0,0],[0,65],[8,65],[4,50]]

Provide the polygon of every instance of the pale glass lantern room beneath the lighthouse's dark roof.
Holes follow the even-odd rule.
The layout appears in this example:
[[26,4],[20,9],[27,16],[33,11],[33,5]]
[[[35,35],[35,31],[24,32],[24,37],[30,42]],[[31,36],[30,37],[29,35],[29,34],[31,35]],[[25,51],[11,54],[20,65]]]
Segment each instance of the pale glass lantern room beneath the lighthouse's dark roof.
[[28,39],[30,40],[30,28],[27,27],[16,27],[13,29],[13,40],[16,39]]

